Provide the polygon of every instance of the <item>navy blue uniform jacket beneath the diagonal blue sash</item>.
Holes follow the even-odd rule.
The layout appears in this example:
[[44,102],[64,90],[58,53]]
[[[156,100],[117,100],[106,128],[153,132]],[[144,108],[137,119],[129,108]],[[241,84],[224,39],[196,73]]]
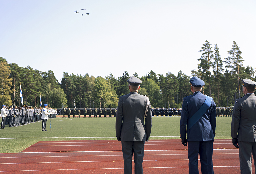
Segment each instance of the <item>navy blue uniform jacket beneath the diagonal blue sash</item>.
[[189,129],[187,129],[188,120],[199,110],[205,102],[206,95],[200,91],[183,99],[182,112],[180,118],[180,138],[186,138],[188,141],[212,141],[215,136],[216,127],[216,104],[212,100],[210,107],[204,115]]

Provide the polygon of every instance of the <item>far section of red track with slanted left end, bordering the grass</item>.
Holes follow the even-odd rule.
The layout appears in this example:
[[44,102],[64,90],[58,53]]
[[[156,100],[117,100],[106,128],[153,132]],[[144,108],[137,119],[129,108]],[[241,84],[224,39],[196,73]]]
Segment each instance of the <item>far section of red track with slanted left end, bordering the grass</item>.
[[[232,139],[216,139],[214,149],[235,148]],[[150,140],[145,142],[145,150],[187,150],[181,140]],[[117,140],[74,140],[39,141],[21,152],[74,152],[74,151],[122,151]]]

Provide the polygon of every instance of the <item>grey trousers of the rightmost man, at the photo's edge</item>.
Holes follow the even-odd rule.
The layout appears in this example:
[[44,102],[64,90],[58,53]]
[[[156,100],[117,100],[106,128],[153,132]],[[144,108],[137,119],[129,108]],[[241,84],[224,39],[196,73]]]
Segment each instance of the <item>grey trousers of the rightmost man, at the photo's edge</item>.
[[238,141],[241,173],[252,173],[252,156],[256,170],[256,142]]

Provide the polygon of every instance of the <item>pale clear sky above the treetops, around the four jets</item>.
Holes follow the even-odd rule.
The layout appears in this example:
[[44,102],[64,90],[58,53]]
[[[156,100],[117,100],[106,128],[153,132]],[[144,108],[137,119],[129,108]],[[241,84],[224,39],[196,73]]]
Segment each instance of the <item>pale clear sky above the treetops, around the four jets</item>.
[[0,56],[59,81],[63,71],[190,75],[205,40],[223,60],[236,41],[256,68],[255,9],[255,0],[0,0]]

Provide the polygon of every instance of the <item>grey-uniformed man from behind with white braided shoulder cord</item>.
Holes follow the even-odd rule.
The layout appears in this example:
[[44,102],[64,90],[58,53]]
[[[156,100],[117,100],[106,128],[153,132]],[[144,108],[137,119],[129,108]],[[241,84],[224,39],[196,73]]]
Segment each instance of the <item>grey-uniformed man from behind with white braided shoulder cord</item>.
[[130,93],[120,96],[118,101],[116,137],[122,141],[124,173],[132,173],[133,154],[134,173],[143,173],[144,145],[149,139],[152,126],[151,106],[147,96],[138,94],[142,81],[130,77],[128,83]]

